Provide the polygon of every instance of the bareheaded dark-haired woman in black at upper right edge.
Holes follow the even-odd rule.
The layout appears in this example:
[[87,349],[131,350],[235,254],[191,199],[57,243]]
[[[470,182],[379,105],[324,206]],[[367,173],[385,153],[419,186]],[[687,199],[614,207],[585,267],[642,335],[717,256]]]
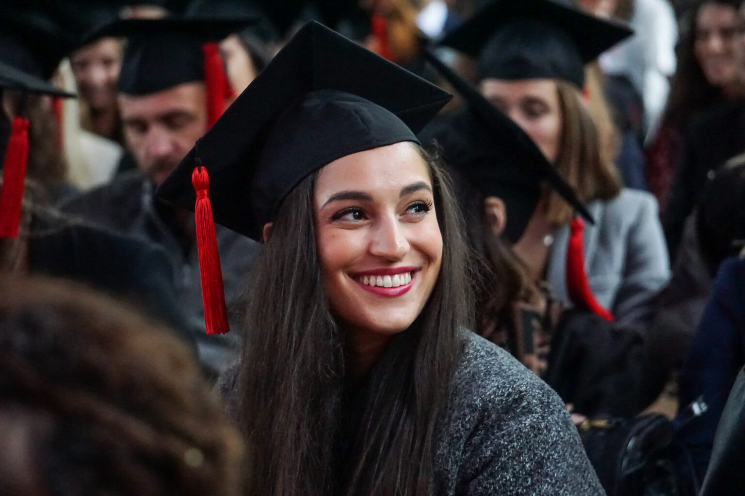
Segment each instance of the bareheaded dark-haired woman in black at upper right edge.
[[662,126],[648,149],[671,259],[710,170],[745,146],[745,39],[741,0],[705,0],[688,13]]

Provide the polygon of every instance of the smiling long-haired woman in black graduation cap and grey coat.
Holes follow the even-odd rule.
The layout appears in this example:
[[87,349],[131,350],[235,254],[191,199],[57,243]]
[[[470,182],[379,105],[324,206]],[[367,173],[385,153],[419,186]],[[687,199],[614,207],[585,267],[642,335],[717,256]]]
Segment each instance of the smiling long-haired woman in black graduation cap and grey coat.
[[414,134],[448,99],[310,23],[161,187],[193,202],[206,164],[217,222],[264,242],[220,383],[245,494],[602,494],[555,393],[467,330],[460,215]]

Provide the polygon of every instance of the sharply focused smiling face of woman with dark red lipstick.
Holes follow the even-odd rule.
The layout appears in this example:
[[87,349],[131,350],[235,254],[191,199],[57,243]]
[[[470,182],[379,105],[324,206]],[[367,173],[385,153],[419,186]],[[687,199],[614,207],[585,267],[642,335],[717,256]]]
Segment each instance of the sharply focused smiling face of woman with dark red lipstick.
[[335,317],[357,341],[408,329],[434,288],[443,256],[432,180],[414,146],[381,146],[323,167],[314,214]]

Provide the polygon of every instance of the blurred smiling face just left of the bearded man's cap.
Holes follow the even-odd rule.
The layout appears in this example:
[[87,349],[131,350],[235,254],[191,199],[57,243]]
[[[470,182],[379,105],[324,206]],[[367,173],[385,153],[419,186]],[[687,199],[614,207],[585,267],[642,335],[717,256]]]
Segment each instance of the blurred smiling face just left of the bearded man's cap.
[[70,57],[70,63],[80,97],[92,109],[115,106],[121,68],[121,43],[117,39],[104,38],[80,48]]

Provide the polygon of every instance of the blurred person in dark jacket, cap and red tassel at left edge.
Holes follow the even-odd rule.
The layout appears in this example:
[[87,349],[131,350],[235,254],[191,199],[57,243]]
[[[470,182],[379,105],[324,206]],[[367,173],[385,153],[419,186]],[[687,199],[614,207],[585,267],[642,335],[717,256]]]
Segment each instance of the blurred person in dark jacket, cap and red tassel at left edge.
[[[0,62],[0,149],[4,164],[0,192],[0,271],[46,274],[86,283],[134,303],[150,317],[168,323],[191,344],[177,311],[173,275],[161,250],[110,231],[72,221],[49,206],[31,149],[42,139],[25,127],[44,115],[29,114],[27,103],[71,97],[50,83]],[[12,105],[10,103],[13,103]],[[49,117],[48,122],[54,123]],[[5,132],[7,131],[7,133]],[[6,153],[7,152],[7,153]],[[59,154],[54,149],[50,154]]]

